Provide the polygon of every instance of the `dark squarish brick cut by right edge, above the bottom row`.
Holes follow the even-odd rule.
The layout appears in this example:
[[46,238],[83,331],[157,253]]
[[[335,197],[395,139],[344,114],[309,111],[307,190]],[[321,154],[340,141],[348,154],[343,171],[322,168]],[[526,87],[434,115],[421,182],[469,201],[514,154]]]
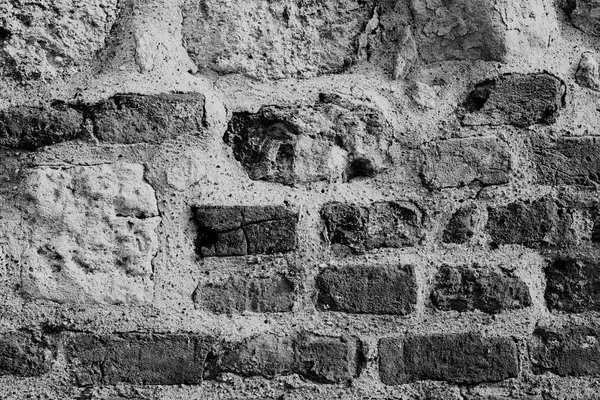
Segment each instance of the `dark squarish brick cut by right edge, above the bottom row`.
[[545,269],[544,297],[550,310],[600,311],[600,262],[593,257],[562,256]]

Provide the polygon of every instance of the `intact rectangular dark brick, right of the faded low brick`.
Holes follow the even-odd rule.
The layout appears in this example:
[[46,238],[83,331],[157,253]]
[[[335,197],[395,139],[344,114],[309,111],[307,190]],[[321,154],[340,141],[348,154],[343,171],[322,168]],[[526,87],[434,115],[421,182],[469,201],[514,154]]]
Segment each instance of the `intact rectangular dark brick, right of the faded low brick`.
[[413,269],[410,265],[324,269],[316,278],[317,308],[360,314],[410,314],[417,303]]

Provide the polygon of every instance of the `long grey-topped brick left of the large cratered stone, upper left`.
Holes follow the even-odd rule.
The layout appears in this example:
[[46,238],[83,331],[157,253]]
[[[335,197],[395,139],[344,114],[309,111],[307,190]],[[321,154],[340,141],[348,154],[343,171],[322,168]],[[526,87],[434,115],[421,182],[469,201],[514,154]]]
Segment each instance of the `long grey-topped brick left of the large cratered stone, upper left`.
[[199,93],[117,94],[86,108],[98,140],[161,143],[202,132],[204,103]]

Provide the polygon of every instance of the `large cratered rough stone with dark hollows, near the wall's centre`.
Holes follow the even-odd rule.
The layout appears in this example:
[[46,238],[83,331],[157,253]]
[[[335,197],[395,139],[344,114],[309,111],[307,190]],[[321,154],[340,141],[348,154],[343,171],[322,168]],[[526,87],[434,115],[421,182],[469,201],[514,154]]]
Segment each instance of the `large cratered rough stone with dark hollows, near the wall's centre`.
[[295,186],[374,176],[392,136],[374,105],[321,94],[313,105],[236,113],[224,141],[250,179]]

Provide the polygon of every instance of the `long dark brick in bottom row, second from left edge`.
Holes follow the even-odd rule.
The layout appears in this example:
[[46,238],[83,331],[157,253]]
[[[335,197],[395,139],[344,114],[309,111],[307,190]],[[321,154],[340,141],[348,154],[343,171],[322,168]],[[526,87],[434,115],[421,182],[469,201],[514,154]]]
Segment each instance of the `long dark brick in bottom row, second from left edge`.
[[190,385],[202,382],[211,345],[202,336],[80,334],[66,352],[80,386]]

